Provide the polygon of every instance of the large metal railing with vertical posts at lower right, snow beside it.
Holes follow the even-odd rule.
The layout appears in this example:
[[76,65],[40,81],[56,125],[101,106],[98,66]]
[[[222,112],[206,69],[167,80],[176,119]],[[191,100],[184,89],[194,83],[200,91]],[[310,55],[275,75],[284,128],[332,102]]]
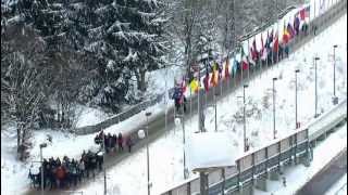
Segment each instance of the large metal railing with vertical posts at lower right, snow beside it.
[[[345,119],[347,119],[347,99],[299,130],[291,130],[294,132],[271,141],[263,147],[243,154],[236,160],[237,167],[209,172],[209,195],[217,195],[223,188],[225,194],[238,192],[245,186],[253,185],[260,178],[266,179],[270,172],[279,172],[285,165],[296,164],[299,158],[309,158],[310,143]],[[199,185],[200,179],[195,177],[162,195],[199,194]]]

